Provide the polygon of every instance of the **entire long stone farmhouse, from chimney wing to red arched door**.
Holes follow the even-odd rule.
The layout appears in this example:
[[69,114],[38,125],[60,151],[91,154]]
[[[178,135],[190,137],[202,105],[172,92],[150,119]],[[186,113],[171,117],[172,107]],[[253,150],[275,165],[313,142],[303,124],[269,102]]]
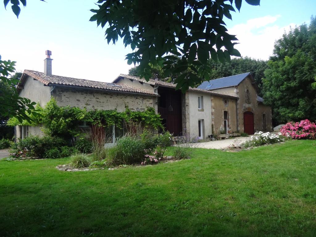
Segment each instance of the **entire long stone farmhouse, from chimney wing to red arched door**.
[[[46,51],[44,73],[24,70],[18,93],[45,106],[54,97],[58,106],[117,109],[128,106],[143,111],[153,107],[165,128],[174,136],[203,139],[218,133],[271,131],[271,109],[257,96],[258,87],[250,73],[203,82],[184,94],[173,83],[120,74],[112,83],[56,76],[52,74],[51,52]],[[40,134],[41,126],[16,126],[16,137]],[[85,122],[82,128],[88,127]],[[122,133],[112,128],[115,133]]]

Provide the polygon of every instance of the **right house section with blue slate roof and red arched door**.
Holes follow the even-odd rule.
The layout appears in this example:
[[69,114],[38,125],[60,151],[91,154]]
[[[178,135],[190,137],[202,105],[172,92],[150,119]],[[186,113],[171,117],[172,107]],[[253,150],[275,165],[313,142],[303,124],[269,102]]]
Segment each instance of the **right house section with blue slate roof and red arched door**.
[[255,131],[272,131],[271,108],[258,96],[258,86],[250,72],[203,82],[197,88],[234,95],[232,101],[212,98],[213,125],[234,131],[254,134]]

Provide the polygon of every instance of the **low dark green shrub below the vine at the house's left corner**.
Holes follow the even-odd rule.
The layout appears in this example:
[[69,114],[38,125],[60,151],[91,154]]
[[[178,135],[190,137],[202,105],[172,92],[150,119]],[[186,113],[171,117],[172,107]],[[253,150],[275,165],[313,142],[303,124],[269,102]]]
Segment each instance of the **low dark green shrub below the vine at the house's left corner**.
[[19,154],[23,154],[28,157],[41,159],[47,150],[63,145],[65,145],[65,141],[60,137],[29,135],[15,143],[15,145],[12,146],[11,152],[17,157],[20,156]]

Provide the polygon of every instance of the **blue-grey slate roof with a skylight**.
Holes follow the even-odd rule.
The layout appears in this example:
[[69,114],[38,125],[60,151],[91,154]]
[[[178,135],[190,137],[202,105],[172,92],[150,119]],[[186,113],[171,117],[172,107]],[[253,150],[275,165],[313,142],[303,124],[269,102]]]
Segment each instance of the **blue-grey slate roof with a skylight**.
[[219,89],[219,88],[238,86],[240,82],[242,82],[242,80],[244,80],[249,75],[251,75],[251,73],[246,72],[246,73],[238,74],[234,76],[222,77],[222,78],[203,82],[197,88],[206,89],[206,90],[214,90],[214,89]]

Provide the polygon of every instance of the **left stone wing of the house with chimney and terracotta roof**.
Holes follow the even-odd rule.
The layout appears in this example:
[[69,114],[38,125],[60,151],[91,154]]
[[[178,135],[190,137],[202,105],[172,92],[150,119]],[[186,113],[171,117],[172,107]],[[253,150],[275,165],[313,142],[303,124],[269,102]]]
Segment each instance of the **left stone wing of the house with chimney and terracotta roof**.
[[[144,111],[147,107],[154,107],[157,112],[156,101],[158,94],[124,84],[96,82],[85,79],[70,78],[52,75],[51,52],[47,52],[44,60],[44,73],[24,70],[17,91],[21,97],[29,98],[44,107],[46,103],[55,98],[58,106],[76,106],[87,110],[117,109],[125,111],[128,106],[131,110]],[[15,137],[23,139],[28,134],[41,134],[41,125],[16,126]],[[80,126],[82,130],[89,131],[85,122]],[[115,133],[122,133],[112,128],[112,141]]]

